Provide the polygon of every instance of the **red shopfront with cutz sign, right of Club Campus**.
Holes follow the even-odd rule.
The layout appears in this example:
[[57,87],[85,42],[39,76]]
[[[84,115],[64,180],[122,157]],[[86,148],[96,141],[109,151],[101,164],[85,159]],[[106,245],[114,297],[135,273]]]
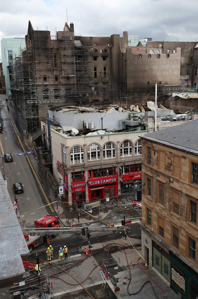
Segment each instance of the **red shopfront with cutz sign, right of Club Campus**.
[[142,172],[122,174],[121,180],[121,194],[140,190],[142,186]]

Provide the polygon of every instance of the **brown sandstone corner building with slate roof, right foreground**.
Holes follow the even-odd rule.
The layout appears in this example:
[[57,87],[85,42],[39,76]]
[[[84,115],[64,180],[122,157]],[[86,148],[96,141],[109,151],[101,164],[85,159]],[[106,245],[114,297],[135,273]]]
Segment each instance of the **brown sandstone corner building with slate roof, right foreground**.
[[181,298],[198,294],[197,125],[141,136],[142,253]]

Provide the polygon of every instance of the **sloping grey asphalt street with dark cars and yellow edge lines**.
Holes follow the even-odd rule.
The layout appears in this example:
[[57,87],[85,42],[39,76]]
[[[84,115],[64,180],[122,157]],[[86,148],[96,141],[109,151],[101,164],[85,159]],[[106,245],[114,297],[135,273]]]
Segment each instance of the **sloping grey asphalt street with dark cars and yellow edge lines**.
[[[4,98],[0,96],[0,99],[2,103],[5,103]],[[0,123],[3,126],[3,133],[0,134],[0,141],[3,152],[4,154],[24,152],[8,116],[7,109],[1,104]],[[18,136],[22,140],[21,135],[18,134]],[[0,151],[2,152],[2,150]],[[2,167],[2,159],[0,163]],[[3,169],[1,168],[1,170]],[[48,204],[39,186],[41,182],[35,179],[33,170],[25,156],[14,156],[13,162],[4,163],[4,171],[12,201],[15,198],[13,184],[19,182],[24,185],[24,193],[17,194],[16,198],[18,199],[19,212],[25,219],[27,227],[33,227],[34,219],[39,219],[47,212],[51,212],[49,206],[40,208]]]

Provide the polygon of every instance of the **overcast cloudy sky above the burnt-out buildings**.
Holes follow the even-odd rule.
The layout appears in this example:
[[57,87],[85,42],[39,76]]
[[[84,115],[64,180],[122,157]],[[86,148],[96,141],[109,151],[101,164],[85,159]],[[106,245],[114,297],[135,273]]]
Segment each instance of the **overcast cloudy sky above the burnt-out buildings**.
[[[64,23],[74,23],[76,35],[120,34],[155,41],[196,41],[198,5],[196,0],[0,0],[0,40],[25,37],[28,20],[34,29],[55,35]],[[1,61],[1,53],[0,53]]]

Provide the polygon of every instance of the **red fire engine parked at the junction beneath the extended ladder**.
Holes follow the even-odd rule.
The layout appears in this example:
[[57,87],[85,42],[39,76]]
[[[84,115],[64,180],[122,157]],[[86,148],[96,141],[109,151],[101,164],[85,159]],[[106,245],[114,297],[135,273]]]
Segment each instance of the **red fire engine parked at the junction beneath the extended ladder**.
[[[35,227],[60,227],[58,216],[47,214],[46,216],[34,220]],[[24,235],[29,251],[31,252],[35,247],[44,243],[46,236],[29,236]]]

